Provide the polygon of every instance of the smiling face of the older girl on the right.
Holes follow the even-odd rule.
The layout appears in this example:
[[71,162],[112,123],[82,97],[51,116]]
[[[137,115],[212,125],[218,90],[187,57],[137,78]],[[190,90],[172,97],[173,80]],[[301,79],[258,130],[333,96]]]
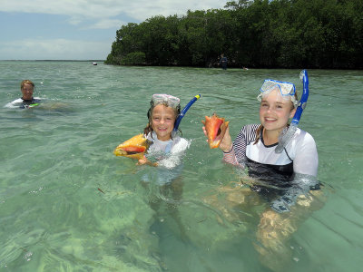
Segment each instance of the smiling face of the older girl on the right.
[[280,90],[276,89],[262,96],[260,103],[260,122],[266,131],[280,133],[288,124],[296,110],[290,100],[283,99]]

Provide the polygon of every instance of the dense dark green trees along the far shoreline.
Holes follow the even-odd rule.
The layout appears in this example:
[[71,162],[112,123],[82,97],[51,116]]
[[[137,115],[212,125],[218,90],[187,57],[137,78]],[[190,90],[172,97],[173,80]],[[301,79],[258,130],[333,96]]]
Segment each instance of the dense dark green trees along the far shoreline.
[[116,32],[105,63],[216,67],[363,67],[362,0],[240,0],[153,16]]

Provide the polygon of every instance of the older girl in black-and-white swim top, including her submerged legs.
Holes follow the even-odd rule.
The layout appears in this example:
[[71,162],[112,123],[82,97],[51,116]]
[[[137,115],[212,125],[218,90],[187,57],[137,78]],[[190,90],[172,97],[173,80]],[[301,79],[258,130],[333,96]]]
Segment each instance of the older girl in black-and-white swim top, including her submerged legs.
[[[255,248],[264,265],[280,270],[284,260],[290,259],[287,245],[290,235],[316,208],[317,202],[321,206],[318,151],[313,137],[299,128],[282,152],[275,151],[281,132],[288,130],[289,119],[297,111],[294,84],[265,80],[258,100],[260,123],[243,126],[235,141],[231,141],[227,129],[219,146],[223,160],[247,170],[252,179],[242,181],[240,194],[236,193],[238,188],[222,190],[230,193],[231,202],[245,205],[245,210],[249,205],[253,206],[256,199],[267,201],[267,208],[260,213]],[[202,129],[206,134],[205,128]],[[251,197],[253,193],[255,195]]]

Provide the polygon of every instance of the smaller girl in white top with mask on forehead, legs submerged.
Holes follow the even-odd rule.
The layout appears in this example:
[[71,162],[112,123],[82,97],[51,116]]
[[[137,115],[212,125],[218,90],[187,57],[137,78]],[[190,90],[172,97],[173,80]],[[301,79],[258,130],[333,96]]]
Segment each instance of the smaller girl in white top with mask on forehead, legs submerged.
[[[175,121],[181,113],[180,99],[169,94],[153,94],[151,107],[147,113],[148,124],[144,129],[145,137],[151,142],[147,155],[138,164],[148,164],[156,167],[148,170],[142,177],[143,184],[156,183],[162,197],[152,196],[149,204],[155,210],[157,226],[165,214],[161,206],[166,205],[167,214],[177,223],[181,238],[186,238],[185,229],[180,220],[175,201],[182,199],[182,156],[190,142],[173,131]],[[171,196],[169,196],[171,195]],[[167,219],[166,219],[167,220]],[[151,227],[156,228],[157,227]]]

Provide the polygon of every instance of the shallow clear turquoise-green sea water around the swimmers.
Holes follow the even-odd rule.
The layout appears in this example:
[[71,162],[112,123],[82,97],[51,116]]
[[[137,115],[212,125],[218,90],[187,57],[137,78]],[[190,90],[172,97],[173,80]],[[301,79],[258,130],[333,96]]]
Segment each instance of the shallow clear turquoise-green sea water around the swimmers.
[[[255,98],[265,78],[300,86],[299,70],[0,62],[0,271],[270,271],[253,247],[256,229],[229,223],[203,201],[240,177],[201,131],[212,112],[231,121],[232,137],[259,121]],[[34,81],[44,108],[3,107],[19,97],[23,79]],[[309,70],[309,82],[300,127],[317,141],[327,200],[289,240],[286,271],[358,271],[363,72]],[[202,96],[181,124],[191,140],[181,200],[142,184],[151,168],[113,156],[143,130],[154,92],[177,95],[182,105]]]

